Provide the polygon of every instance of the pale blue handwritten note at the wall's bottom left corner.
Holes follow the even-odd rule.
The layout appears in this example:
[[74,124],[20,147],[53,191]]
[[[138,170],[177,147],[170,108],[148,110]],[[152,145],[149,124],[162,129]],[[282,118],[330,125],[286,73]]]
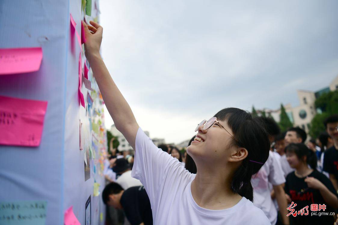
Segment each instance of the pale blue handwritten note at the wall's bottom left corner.
[[0,224],[45,225],[47,201],[0,202]]

